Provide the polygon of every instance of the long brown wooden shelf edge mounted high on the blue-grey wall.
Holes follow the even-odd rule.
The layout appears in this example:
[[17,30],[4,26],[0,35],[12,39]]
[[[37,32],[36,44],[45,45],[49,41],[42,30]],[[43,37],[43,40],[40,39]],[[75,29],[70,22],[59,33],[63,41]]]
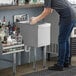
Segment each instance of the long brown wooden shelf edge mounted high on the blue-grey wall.
[[7,5],[0,6],[0,10],[14,10],[21,8],[43,7],[43,4]]

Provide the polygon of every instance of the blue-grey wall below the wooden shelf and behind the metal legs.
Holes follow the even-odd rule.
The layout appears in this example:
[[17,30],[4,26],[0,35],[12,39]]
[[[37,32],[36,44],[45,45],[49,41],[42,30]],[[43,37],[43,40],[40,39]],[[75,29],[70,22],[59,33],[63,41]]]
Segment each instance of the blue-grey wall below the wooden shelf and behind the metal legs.
[[[26,9],[16,9],[16,10],[7,10],[7,9],[6,10],[0,10],[0,20],[2,20],[3,16],[5,16],[8,21],[13,23],[13,15],[28,13],[30,15],[30,17],[32,17],[32,16],[37,16],[38,14],[40,14],[42,12],[42,10],[43,10],[42,8],[30,8],[30,9],[26,8]],[[38,60],[40,60],[42,58],[41,57],[42,56],[41,55],[42,54],[41,50],[37,51],[37,54],[38,54],[37,58],[38,58]],[[33,60],[32,56],[33,56],[33,51],[31,52],[31,60]],[[12,55],[3,55],[3,56],[0,55],[0,58],[6,58],[6,59],[9,59],[9,60],[12,60]],[[27,63],[27,61],[28,61],[28,54],[23,52],[21,58],[22,58],[22,61],[21,61],[22,64],[23,63]],[[18,59],[19,59],[19,57],[17,55],[17,64],[18,64]],[[7,68],[7,67],[10,67],[10,66],[12,66],[11,63],[4,62],[4,61],[0,60],[0,69]]]

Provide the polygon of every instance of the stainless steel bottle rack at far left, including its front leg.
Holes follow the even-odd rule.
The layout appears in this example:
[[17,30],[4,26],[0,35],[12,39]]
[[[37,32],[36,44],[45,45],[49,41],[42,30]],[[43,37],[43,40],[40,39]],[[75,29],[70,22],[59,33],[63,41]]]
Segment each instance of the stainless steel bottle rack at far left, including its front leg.
[[[16,76],[16,53],[24,51],[23,47],[24,47],[24,44],[3,46],[2,43],[0,42],[0,54],[1,55],[13,54],[13,61],[7,60],[7,59],[1,59],[1,60],[4,60],[4,61],[13,63],[13,76]],[[11,51],[9,49],[11,49]],[[3,51],[5,51],[5,52],[3,52]]]

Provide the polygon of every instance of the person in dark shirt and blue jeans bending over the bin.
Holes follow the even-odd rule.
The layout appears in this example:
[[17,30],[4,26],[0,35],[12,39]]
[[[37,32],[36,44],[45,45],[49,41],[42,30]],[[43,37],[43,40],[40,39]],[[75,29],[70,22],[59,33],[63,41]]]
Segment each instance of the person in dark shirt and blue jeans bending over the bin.
[[57,64],[48,69],[62,71],[64,67],[69,67],[69,36],[76,18],[76,13],[71,4],[67,0],[45,0],[43,12],[39,16],[31,18],[30,24],[36,24],[52,13],[53,9],[56,10],[60,16],[58,37],[59,52]]

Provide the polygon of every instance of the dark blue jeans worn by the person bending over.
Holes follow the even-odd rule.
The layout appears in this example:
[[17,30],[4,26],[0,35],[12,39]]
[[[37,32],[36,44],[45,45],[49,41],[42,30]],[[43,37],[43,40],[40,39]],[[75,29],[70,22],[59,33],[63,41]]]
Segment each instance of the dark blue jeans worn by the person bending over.
[[64,66],[64,63],[69,63],[70,47],[69,47],[69,37],[71,31],[74,27],[74,23],[71,18],[60,18],[59,23],[59,55],[58,55],[58,65]]

